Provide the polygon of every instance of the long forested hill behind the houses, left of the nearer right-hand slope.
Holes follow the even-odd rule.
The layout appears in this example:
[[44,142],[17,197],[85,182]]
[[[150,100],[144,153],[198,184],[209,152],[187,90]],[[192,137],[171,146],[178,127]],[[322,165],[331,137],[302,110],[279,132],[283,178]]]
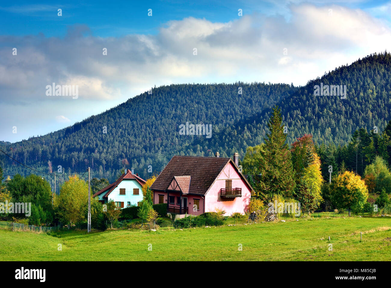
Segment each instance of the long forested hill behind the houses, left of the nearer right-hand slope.
[[[239,87],[242,94],[238,93]],[[296,89],[264,83],[162,86],[73,126],[6,145],[5,149],[11,157],[45,173],[50,171],[50,164],[53,173],[62,165],[68,174],[90,166],[92,176],[113,182],[119,169],[134,167],[139,175],[148,177],[152,174],[148,173],[149,165],[152,172],[161,171],[175,154],[213,155],[215,151],[210,150],[208,142],[220,131],[290,97]],[[212,124],[212,137],[179,135],[179,125],[186,122]],[[244,153],[246,144],[240,134],[238,144]],[[203,140],[202,146],[194,145],[197,138]],[[230,151],[227,147],[219,151],[222,156],[231,155],[231,151],[237,151],[232,149],[235,146],[230,143]],[[8,157],[2,160],[5,175],[31,173]]]

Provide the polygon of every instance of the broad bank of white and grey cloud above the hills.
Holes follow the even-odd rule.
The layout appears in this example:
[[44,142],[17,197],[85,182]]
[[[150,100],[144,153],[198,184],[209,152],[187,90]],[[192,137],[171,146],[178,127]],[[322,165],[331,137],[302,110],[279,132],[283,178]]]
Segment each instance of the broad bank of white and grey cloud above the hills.
[[[305,85],[325,71],[391,46],[390,23],[362,10],[328,4],[287,7],[289,20],[256,13],[227,23],[189,17],[169,21],[152,35],[83,36],[89,28],[81,25],[65,38],[0,36],[0,101],[45,103],[56,115],[79,120],[91,115],[92,108],[82,114],[75,108],[88,107],[83,101],[95,101],[95,112],[104,111],[155,85]],[[46,96],[45,87],[53,82],[78,85],[79,98]]]

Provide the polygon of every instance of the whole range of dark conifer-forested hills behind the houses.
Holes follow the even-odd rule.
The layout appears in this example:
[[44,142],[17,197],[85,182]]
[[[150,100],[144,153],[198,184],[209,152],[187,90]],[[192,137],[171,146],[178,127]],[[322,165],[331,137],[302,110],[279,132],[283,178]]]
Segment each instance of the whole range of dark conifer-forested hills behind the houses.
[[[92,176],[113,182],[122,167],[144,178],[161,171],[173,155],[222,157],[262,142],[271,107],[282,108],[288,140],[304,133],[314,140],[343,144],[361,127],[382,131],[389,120],[391,56],[374,54],[336,68],[307,85],[182,84],[162,86],[129,99],[102,114],[41,137],[2,144],[7,153],[39,171],[65,173],[91,166]],[[315,85],[346,85],[346,99],[314,96]],[[239,94],[242,87],[242,94]],[[212,137],[180,135],[179,125],[212,124]],[[104,133],[105,127],[107,133]],[[30,174],[8,157],[0,159],[5,175]],[[51,176],[45,176],[51,181]],[[50,179],[49,179],[50,178]],[[60,178],[61,179],[61,178]]]

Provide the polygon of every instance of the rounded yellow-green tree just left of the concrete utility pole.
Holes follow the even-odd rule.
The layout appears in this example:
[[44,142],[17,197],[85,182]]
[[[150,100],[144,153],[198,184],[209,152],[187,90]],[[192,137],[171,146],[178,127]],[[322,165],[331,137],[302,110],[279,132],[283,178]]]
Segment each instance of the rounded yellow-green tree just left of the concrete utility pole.
[[54,198],[57,216],[63,223],[72,224],[84,220],[84,205],[88,202],[88,184],[77,175],[69,176]]

